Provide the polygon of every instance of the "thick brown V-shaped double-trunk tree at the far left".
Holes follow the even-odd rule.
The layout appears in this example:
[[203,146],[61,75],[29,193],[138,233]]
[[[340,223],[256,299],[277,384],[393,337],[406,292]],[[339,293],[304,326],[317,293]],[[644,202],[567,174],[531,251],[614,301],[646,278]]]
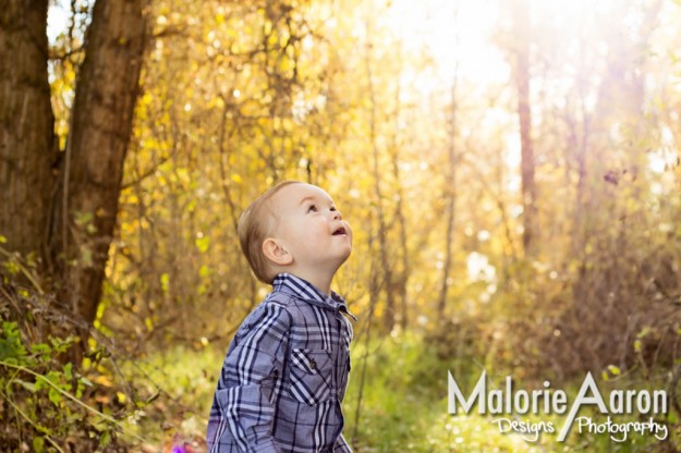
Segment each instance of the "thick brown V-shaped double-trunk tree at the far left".
[[0,173],[9,197],[0,229],[12,249],[39,254],[61,299],[86,323],[95,320],[117,224],[146,46],[144,5],[142,0],[95,3],[69,136],[59,154],[49,99],[47,2],[35,8],[12,1],[2,11],[7,158]]

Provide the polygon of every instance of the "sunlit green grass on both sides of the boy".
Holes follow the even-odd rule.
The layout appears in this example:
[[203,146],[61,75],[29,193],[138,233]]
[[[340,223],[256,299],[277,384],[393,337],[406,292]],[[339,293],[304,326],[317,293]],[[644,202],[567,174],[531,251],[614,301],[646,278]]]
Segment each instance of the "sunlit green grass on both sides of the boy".
[[[163,389],[163,396],[146,409],[137,424],[138,432],[150,444],[160,445],[163,451],[182,441],[202,448],[206,417],[226,350],[227,345],[208,345],[198,351],[177,347],[158,353],[144,365],[151,380]],[[481,369],[471,362],[438,359],[435,348],[416,336],[386,338],[368,348],[356,343],[352,356],[350,385],[343,402],[343,432],[357,453],[641,452],[654,448],[664,451],[660,448],[664,445],[650,434],[632,433],[627,442],[618,443],[607,434],[580,433],[576,425],[564,443],[558,442],[566,414],[516,416],[519,420],[554,424],[556,432],[543,433],[537,442],[527,442],[519,433],[500,432],[492,423],[498,417],[473,412],[449,415],[447,370],[467,377],[469,382],[460,382],[467,394]],[[581,381],[567,390],[569,401],[574,399],[580,384]],[[153,390],[150,387],[149,392]],[[580,415],[588,415],[588,411]],[[615,417],[618,417],[617,423],[627,421],[622,416]],[[673,437],[678,439],[679,433]]]

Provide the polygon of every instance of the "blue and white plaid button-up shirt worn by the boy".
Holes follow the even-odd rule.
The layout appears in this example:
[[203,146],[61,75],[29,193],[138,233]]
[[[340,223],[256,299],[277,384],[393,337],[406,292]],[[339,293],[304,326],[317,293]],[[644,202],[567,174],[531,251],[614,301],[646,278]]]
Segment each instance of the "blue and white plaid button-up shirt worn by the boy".
[[[351,453],[341,401],[352,326],[345,302],[282,273],[236,331],[208,418],[208,451]],[[354,317],[353,317],[354,318]]]

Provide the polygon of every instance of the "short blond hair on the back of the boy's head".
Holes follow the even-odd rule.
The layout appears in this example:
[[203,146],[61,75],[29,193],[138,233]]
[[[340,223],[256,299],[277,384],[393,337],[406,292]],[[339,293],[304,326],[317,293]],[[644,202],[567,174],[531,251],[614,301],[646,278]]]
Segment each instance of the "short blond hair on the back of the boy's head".
[[276,276],[269,261],[263,253],[263,243],[275,232],[277,215],[271,206],[271,198],[283,187],[291,184],[301,184],[300,181],[283,181],[269,188],[253,201],[239,218],[236,233],[239,242],[253,273],[264,283],[272,283]]

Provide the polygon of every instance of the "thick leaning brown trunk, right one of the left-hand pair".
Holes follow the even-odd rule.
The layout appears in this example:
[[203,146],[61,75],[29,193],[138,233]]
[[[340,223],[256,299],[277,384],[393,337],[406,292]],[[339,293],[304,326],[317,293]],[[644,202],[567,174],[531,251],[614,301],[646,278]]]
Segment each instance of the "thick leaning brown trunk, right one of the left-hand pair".
[[143,0],[98,0],[78,73],[51,250],[63,301],[97,315],[145,48]]

